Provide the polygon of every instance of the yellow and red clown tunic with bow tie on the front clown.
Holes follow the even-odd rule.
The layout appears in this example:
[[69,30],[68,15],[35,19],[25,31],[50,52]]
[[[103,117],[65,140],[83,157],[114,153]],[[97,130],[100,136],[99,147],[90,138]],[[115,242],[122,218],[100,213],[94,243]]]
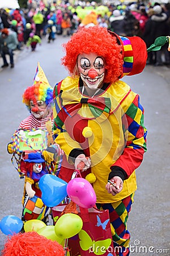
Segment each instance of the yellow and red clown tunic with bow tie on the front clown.
[[[146,150],[145,136],[146,129],[142,125],[143,109],[139,105],[139,96],[131,91],[129,85],[125,82],[117,81],[114,86],[110,85],[107,91],[93,98],[96,101],[87,102],[88,97],[83,97],[79,89],[79,79],[67,77],[56,87],[59,89],[58,97],[56,97],[56,110],[58,115],[54,118],[54,125],[59,123],[61,127],[56,126],[55,133],[57,136],[57,143],[65,152],[65,160],[63,160],[63,172],[60,171],[59,177],[64,180],[70,180],[74,171],[73,164],[69,160],[70,152],[74,148],[83,149],[86,156],[91,158],[91,168],[82,175],[87,175],[92,172],[96,176],[96,181],[93,184],[97,196],[97,203],[112,203],[118,201],[125,196],[130,195],[137,189],[135,172],[131,171],[128,179],[124,181],[123,190],[116,196],[112,196],[105,189],[111,166],[120,161],[122,152],[126,150],[131,151],[134,148],[141,147],[139,154],[139,161],[142,160],[142,153]],[[101,110],[101,100],[108,99],[104,106],[105,110]],[[62,105],[60,104],[62,102]],[[105,104],[105,103],[104,103]],[[98,109],[97,109],[97,105]],[[128,115],[130,108],[135,110],[134,119]],[[57,113],[56,112],[56,113]],[[128,133],[128,118],[130,124],[135,123],[138,127],[131,128],[131,133]],[[131,124],[132,126],[132,124]],[[86,138],[83,136],[83,130],[89,128],[92,133]],[[61,130],[63,131],[62,133]],[[138,133],[138,138],[135,137]],[[102,160],[102,161],[101,161]],[[70,163],[70,164],[69,164]],[[131,166],[136,163],[131,162]],[[124,167],[126,163],[122,163]],[[104,168],[103,168],[104,166]],[[124,167],[125,168],[125,167]],[[71,169],[71,170],[70,170]],[[128,171],[128,170],[127,170]]]

